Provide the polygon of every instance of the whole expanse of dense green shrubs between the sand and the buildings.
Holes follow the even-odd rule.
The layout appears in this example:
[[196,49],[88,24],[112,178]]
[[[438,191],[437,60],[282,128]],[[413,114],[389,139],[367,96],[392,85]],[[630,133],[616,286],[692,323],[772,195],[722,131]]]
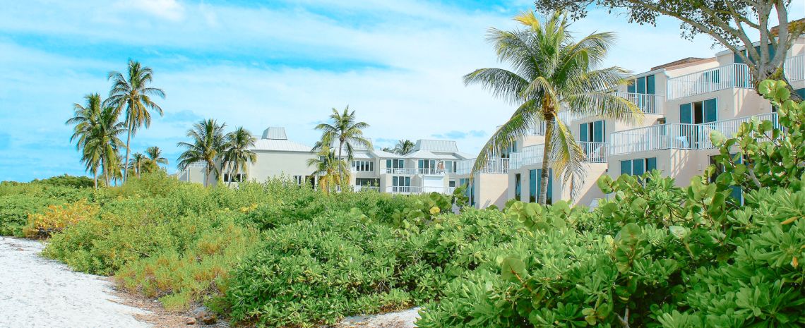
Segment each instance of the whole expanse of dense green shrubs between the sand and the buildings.
[[[424,305],[421,327],[805,325],[805,103],[759,88],[779,126],[714,133],[689,187],[658,171],[603,176],[599,207],[323,194],[283,179],[237,189],[158,171],[120,187],[0,184],[0,233],[114,275],[168,309],[316,326]],[[742,195],[735,198],[735,188]]]

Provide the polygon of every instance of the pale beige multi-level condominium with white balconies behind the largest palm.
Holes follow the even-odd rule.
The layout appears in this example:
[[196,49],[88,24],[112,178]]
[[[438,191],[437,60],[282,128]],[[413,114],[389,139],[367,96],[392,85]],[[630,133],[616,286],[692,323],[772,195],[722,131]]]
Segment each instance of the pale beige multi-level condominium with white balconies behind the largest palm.
[[[795,92],[805,97],[805,37],[787,54],[784,71]],[[769,101],[755,92],[749,67],[730,51],[659,65],[631,76],[628,84],[613,92],[637,105],[642,121],[630,124],[559,113],[558,119],[568,125],[584,153],[587,172],[587,178],[575,186],[579,193],[572,203],[595,206],[597,199],[605,197],[596,184],[602,174],[617,178],[657,169],[686,187],[718,154],[710,141],[711,131],[731,137],[745,121],[777,120]],[[487,172],[507,177],[506,199],[536,201],[544,134],[544,123],[538,124],[511,146],[514,151],[489,160]],[[553,172],[549,177],[547,201],[570,200],[570,183]]]

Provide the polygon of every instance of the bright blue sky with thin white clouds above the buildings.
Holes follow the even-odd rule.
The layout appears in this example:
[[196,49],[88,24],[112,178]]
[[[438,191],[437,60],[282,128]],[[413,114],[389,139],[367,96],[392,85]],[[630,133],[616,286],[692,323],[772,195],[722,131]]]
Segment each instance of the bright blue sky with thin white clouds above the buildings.
[[[132,152],[159,146],[171,172],[196,121],[253,134],[281,126],[312,146],[314,126],[347,105],[377,147],[436,138],[477,153],[514,106],[461,77],[506,68],[487,31],[516,28],[511,18],[533,9],[528,0],[0,2],[0,181],[85,174],[64,121],[86,94],[107,95],[108,72],[128,59],[153,68],[152,86],[167,95]],[[805,15],[799,7],[792,16]],[[572,31],[617,32],[605,65],[632,72],[722,50],[706,36],[682,39],[672,18],[641,26],[594,10]]]

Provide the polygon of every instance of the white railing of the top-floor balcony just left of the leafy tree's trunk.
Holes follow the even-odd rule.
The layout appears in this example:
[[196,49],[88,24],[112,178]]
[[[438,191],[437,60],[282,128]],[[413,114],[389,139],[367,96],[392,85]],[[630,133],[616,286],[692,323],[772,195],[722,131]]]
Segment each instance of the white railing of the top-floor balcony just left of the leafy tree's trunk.
[[668,79],[669,100],[714,92],[726,88],[753,88],[752,74],[746,64],[729,64],[706,71]]

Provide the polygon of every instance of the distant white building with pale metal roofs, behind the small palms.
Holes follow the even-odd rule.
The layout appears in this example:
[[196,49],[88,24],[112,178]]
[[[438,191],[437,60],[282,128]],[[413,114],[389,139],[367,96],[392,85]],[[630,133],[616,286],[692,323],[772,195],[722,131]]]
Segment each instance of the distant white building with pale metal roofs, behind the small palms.
[[[221,181],[237,184],[239,181],[262,182],[284,176],[299,184],[316,186],[319,177],[314,174],[315,168],[308,166],[308,160],[317,155],[312,152],[312,147],[288,140],[284,128],[266,129],[251,150],[257,154],[257,161],[247,164],[246,170],[237,173],[224,170]],[[345,152],[343,156],[346,156]],[[356,190],[371,189],[392,194],[449,194],[463,183],[456,173],[459,162],[471,157],[458,150],[456,141],[446,140],[418,140],[414,150],[403,155],[355,146],[350,163],[350,185]],[[193,164],[177,175],[182,181],[200,183],[206,177],[209,185],[218,182],[213,174],[207,177],[206,165],[202,163]]]

